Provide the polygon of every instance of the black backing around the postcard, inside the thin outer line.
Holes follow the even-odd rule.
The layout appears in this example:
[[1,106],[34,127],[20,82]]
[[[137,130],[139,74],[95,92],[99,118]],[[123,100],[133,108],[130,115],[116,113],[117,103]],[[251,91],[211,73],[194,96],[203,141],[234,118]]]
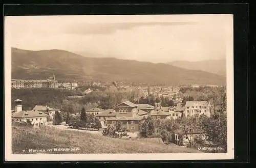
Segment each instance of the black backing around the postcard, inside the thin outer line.
[[[99,4],[4,5],[4,16],[18,15],[131,15],[131,14],[233,14],[234,25],[234,160],[166,160],[155,162],[248,162],[248,4]],[[4,118],[3,118],[4,119]],[[4,121],[3,121],[4,123]],[[4,132],[3,132],[4,133]],[[22,161],[4,161],[22,163]],[[31,163],[32,161],[26,161]],[[56,161],[47,161],[56,163]],[[75,163],[78,161],[63,161]],[[95,163],[99,161],[79,161]],[[100,161],[129,162],[129,161]],[[130,161],[150,162],[150,161]],[[25,161],[24,161],[25,163]],[[35,162],[33,162],[35,163]],[[38,161],[45,163],[45,161]]]

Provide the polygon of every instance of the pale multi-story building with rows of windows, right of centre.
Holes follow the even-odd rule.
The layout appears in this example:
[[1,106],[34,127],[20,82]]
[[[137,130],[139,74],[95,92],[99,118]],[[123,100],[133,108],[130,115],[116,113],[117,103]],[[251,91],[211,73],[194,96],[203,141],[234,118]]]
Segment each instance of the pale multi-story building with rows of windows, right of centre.
[[207,117],[210,116],[210,104],[207,101],[187,101],[184,109],[184,116],[199,116],[204,114]]

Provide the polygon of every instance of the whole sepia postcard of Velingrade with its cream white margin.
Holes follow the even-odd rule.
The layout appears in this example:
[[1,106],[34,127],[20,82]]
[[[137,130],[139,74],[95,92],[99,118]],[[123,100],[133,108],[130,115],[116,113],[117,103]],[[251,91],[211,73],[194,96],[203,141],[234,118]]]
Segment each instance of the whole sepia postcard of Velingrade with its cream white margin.
[[4,24],[7,161],[234,159],[232,15]]

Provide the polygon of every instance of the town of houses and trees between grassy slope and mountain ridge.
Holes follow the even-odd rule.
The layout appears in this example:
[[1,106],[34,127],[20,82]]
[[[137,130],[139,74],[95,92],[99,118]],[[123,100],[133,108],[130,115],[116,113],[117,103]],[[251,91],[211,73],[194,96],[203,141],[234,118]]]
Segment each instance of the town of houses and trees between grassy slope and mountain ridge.
[[[225,129],[214,125],[219,119],[226,122],[225,87],[150,86],[116,81],[58,82],[55,75],[41,80],[12,80],[12,92],[24,89],[68,91],[73,95],[60,98],[59,105],[49,100],[47,104],[28,107],[27,101],[25,109],[22,98],[12,97],[15,99],[12,102],[14,109],[11,110],[14,126],[84,130],[130,140],[159,138],[166,145],[193,149],[221,145],[226,149],[223,143],[226,139]],[[100,97],[100,94],[109,94],[109,97]],[[113,94],[119,96],[119,100],[113,100]],[[26,96],[29,95],[23,95]],[[207,124],[212,125],[207,127]],[[223,129],[223,137],[214,137],[213,128],[218,129],[216,131]]]

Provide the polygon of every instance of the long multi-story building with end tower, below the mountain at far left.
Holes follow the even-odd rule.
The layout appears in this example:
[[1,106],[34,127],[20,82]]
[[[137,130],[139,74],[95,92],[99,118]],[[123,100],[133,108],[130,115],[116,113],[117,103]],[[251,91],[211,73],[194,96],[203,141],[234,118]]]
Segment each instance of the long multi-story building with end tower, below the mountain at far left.
[[22,80],[22,79],[12,79],[12,88],[22,89],[22,88],[56,88],[55,76],[51,76],[50,79],[46,80]]

